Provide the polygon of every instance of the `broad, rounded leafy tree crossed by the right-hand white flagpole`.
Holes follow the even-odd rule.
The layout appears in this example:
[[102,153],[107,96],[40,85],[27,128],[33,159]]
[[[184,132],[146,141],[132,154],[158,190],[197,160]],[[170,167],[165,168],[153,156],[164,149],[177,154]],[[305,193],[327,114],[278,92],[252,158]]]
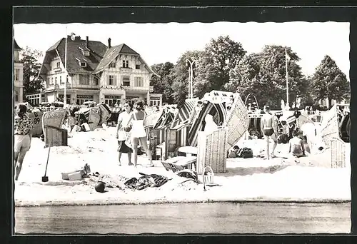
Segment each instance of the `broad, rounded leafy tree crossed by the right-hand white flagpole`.
[[256,96],[259,104],[269,104],[280,108],[281,99],[286,100],[286,54],[288,61],[289,104],[296,103],[308,91],[308,81],[296,63],[300,60],[291,48],[284,46],[264,46],[257,54],[243,56],[230,71],[230,81],[225,84],[228,91],[238,91],[242,98],[249,93]]

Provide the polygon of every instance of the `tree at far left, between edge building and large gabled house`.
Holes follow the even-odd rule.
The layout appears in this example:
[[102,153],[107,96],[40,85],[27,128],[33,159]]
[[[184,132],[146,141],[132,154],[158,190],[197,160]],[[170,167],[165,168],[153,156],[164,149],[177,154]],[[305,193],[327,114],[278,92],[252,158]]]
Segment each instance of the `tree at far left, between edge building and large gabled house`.
[[21,51],[21,56],[21,63],[24,64],[24,98],[26,98],[26,94],[40,92],[44,88],[42,79],[37,79],[41,68],[39,58],[42,53],[26,46],[26,49]]

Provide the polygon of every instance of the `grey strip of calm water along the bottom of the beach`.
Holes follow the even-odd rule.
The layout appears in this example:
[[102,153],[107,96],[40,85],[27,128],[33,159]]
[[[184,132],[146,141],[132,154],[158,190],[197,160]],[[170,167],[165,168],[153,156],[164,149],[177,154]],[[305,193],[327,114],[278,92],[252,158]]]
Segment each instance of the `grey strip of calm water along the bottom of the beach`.
[[349,203],[181,203],[16,208],[16,233],[349,233]]

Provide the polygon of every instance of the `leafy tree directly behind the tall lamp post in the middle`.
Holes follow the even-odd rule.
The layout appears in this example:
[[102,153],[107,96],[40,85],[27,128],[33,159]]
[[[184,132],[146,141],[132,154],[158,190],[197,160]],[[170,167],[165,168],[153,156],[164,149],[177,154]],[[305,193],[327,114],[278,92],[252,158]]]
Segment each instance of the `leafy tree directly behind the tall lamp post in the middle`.
[[[176,65],[172,69],[171,79],[173,80],[172,83],[172,90],[174,91],[171,96],[174,98],[174,102],[181,106],[185,99],[188,96],[188,73],[189,73],[189,66],[187,60],[196,62],[199,60],[201,56],[201,51],[186,51],[184,54],[180,56]],[[197,73],[197,66],[193,65],[193,77],[196,77]],[[196,78],[193,78],[193,84],[195,84]],[[194,89],[197,89],[196,86],[193,86]],[[195,93],[195,90],[193,90]]]

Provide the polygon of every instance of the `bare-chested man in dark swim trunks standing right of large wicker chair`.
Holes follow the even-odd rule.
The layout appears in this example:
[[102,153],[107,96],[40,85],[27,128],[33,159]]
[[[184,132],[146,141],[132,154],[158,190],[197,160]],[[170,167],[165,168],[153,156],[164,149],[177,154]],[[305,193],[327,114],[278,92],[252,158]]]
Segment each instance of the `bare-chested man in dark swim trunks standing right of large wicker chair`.
[[266,158],[269,159],[269,139],[272,138],[274,141],[271,157],[275,157],[274,150],[278,145],[278,118],[271,114],[269,106],[264,106],[264,112],[266,114],[261,118],[261,130],[266,139]]

